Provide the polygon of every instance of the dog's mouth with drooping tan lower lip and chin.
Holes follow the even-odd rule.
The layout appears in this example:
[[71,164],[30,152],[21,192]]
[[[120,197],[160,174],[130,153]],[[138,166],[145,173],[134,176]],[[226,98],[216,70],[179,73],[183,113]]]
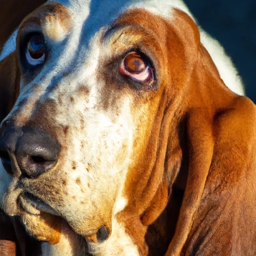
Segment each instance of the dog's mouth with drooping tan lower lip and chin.
[[30,193],[22,193],[18,203],[24,210],[21,220],[37,240],[57,244],[60,241],[62,218],[51,206]]

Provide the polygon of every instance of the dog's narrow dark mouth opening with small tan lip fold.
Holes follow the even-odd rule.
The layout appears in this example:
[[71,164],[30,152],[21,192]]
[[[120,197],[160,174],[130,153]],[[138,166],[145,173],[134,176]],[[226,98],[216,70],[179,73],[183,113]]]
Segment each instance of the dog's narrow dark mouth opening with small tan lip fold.
[[19,196],[19,202],[22,209],[32,215],[40,215],[40,212],[46,212],[51,215],[61,216],[50,205],[46,204],[42,199],[30,193],[22,193]]

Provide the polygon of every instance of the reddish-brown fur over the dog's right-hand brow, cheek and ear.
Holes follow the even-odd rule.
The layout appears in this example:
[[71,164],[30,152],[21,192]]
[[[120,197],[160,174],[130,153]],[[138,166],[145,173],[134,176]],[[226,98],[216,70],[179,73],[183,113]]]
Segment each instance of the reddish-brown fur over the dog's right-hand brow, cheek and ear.
[[[118,222],[141,255],[255,255],[255,105],[223,83],[188,15],[175,10],[169,22],[132,10],[112,28],[129,25],[138,26],[127,28],[131,41],[139,34],[155,60],[157,88],[140,94],[127,84],[120,89],[132,93],[138,105],[148,104],[150,122],[134,145],[124,185],[128,204]],[[15,88],[13,80],[9,84]],[[109,86],[103,109],[109,98],[118,105],[111,95],[117,83]],[[59,189],[55,186],[49,189]]]

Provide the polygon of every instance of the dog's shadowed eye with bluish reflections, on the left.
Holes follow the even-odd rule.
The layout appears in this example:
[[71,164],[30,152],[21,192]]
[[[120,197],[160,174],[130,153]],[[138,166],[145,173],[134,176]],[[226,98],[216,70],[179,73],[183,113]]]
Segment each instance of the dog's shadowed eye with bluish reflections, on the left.
[[30,36],[26,49],[26,59],[28,63],[36,66],[42,64],[44,58],[44,36],[42,34]]

